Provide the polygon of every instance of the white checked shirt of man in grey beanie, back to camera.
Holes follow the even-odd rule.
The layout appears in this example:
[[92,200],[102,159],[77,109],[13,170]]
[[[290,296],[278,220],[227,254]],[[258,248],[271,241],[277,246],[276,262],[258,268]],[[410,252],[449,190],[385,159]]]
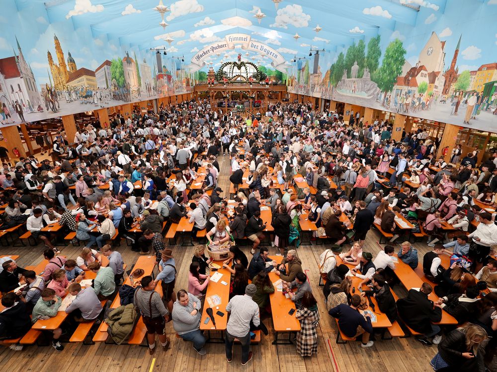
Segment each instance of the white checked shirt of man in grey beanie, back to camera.
[[250,330],[250,320],[255,326],[260,324],[259,307],[250,296],[235,296],[228,305],[226,311],[231,312],[226,330],[235,337],[245,337]]

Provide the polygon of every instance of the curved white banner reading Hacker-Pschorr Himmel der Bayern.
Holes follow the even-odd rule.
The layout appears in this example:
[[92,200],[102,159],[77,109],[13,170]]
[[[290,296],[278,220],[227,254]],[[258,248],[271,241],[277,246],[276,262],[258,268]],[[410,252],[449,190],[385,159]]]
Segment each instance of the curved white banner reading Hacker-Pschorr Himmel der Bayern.
[[273,48],[268,47],[263,43],[250,40],[250,35],[246,34],[226,35],[226,40],[212,43],[211,45],[205,47],[204,49],[196,53],[191,59],[191,64],[187,65],[185,68],[189,73],[198,71],[203,66],[205,66],[204,61],[207,58],[214,56],[218,53],[224,53],[227,50],[235,49],[235,45],[238,44],[242,45],[243,50],[257,52],[259,54],[269,57],[273,61],[271,62],[271,66],[273,66],[278,71],[287,73],[287,69],[291,68],[290,65],[285,64],[286,60],[281,54],[279,54]]

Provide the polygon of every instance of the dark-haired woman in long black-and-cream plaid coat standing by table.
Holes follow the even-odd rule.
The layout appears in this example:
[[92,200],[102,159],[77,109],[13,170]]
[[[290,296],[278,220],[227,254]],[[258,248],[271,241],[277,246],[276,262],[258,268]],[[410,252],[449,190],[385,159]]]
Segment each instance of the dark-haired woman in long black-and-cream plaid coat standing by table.
[[302,297],[302,306],[295,313],[300,322],[300,331],[297,333],[297,353],[301,357],[310,357],[318,352],[318,322],[319,311],[316,299],[311,292]]

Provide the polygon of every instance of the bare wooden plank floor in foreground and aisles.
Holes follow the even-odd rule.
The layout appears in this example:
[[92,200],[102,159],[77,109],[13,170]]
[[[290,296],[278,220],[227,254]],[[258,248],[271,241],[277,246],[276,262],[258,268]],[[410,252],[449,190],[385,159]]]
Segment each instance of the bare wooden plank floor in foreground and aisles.
[[[229,191],[229,157],[221,156],[218,159],[221,166],[220,186]],[[370,231],[366,240],[366,251],[376,256],[380,250],[378,245],[379,235],[376,231]],[[429,250],[426,244],[414,245],[419,255],[422,256]],[[187,271],[193,255],[193,247],[174,246],[174,258],[177,266],[177,280],[175,290],[187,288]],[[318,286],[319,256],[326,246],[302,246],[298,249],[303,268],[308,274],[313,293],[318,300],[321,312],[319,322],[319,348],[318,353],[311,358],[302,358],[296,353],[294,345],[271,345],[272,342],[272,320],[263,319],[269,328],[270,334],[262,340],[259,345],[252,346],[253,360],[242,366],[240,362],[241,349],[235,346],[233,363],[228,364],[225,358],[224,344],[207,344],[207,355],[199,356],[192,347],[191,342],[184,342],[175,337],[172,323],[168,323],[166,331],[171,340],[170,349],[164,353],[158,349],[155,355],[150,356],[146,347],[128,345],[83,345],[81,343],[65,343],[65,350],[56,352],[51,346],[38,347],[27,346],[23,351],[12,351],[0,347],[0,366],[3,371],[174,371],[174,372],[203,372],[203,371],[253,371],[253,372],[317,372],[317,371],[432,371],[429,361],[436,354],[436,346],[425,347],[416,342],[414,338],[395,338],[393,340],[375,341],[373,347],[361,349],[360,342],[348,342],[346,345],[335,344],[336,326],[333,318],[326,312],[324,303],[323,287]],[[400,246],[398,246],[400,248]],[[63,248],[62,254],[68,258],[76,258],[80,252],[79,247],[72,245]],[[274,249],[274,248],[273,248]],[[270,250],[275,254],[276,250]],[[124,261],[131,268],[136,262],[138,255],[130,248],[124,246],[124,240],[120,248]],[[250,257],[249,249],[244,248]],[[0,247],[0,254],[18,254],[19,266],[37,264],[42,260],[43,246],[8,248]],[[405,295],[404,288],[395,288],[401,297]],[[151,369],[151,366],[154,366]]]

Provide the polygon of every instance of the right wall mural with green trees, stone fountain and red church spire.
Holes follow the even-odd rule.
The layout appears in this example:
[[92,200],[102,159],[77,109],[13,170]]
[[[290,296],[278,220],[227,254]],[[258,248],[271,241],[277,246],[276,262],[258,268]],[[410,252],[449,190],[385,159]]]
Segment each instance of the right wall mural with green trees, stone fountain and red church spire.
[[[465,19],[468,7],[478,17]],[[318,68],[316,55],[296,61],[289,92],[496,132],[497,1],[447,1],[437,23],[420,15],[415,36],[379,33]]]

